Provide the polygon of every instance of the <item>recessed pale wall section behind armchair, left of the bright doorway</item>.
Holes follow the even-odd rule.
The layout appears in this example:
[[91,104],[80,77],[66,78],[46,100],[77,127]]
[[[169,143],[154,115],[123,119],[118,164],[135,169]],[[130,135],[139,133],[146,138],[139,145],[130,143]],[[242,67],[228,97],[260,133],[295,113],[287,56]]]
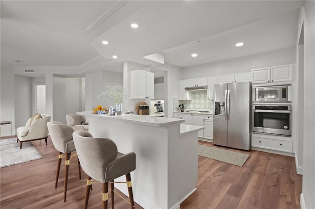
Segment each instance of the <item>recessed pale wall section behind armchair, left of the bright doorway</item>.
[[25,126],[32,117],[32,78],[14,75],[15,128]]

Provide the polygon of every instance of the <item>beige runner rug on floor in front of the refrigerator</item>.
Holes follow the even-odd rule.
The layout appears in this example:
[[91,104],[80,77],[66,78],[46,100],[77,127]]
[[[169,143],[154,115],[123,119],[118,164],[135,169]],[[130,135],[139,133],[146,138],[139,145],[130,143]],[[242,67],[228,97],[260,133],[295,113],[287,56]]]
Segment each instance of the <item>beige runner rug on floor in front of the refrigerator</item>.
[[246,160],[250,157],[248,154],[232,152],[228,150],[198,145],[198,155],[216,159],[222,162],[227,162],[233,165],[243,166]]

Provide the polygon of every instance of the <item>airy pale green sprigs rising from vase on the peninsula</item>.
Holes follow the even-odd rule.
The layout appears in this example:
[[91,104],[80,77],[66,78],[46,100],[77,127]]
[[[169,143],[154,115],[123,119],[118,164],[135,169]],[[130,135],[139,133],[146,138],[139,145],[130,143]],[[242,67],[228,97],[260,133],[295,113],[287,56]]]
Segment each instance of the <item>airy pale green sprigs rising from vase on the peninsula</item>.
[[111,98],[115,101],[115,103],[119,104],[123,103],[123,101],[129,96],[123,86],[105,86],[105,88],[107,89],[106,91],[97,95],[98,99]]

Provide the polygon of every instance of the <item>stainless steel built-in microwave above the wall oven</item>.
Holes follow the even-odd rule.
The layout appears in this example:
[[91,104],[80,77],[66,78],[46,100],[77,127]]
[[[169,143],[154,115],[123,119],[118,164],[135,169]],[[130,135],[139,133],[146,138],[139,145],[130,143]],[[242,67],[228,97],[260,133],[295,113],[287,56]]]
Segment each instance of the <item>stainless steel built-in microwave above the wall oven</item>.
[[252,102],[291,102],[291,85],[281,86],[253,86]]

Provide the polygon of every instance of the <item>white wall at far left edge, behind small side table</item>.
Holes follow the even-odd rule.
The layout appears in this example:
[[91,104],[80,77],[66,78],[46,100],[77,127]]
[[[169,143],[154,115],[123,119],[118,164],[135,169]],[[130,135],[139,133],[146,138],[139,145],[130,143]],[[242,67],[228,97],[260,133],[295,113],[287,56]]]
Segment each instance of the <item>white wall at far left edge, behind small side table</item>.
[[[13,67],[1,65],[0,73],[1,73],[0,121],[12,121],[12,129],[14,129],[15,114],[14,114],[14,70],[13,70]],[[10,128],[11,127],[9,125],[1,126],[1,135],[2,136],[10,135],[11,134]]]

